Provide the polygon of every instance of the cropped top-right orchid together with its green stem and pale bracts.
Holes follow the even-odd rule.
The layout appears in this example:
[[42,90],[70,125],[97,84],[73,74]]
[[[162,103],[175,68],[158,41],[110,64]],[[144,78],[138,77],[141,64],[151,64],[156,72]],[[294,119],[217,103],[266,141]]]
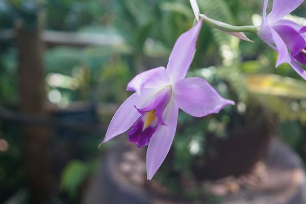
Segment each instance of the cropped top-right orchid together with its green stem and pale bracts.
[[273,0],[272,11],[266,16],[268,2],[269,0],[264,2],[262,24],[258,28],[250,25],[237,27],[211,19],[200,14],[196,0],[190,0],[197,20],[201,17],[206,24],[246,41],[251,40],[242,32],[257,34],[278,53],[276,67],[287,62],[306,80],[306,71],[299,64],[306,66],[306,26],[302,27],[292,20],[283,19],[304,0]]

